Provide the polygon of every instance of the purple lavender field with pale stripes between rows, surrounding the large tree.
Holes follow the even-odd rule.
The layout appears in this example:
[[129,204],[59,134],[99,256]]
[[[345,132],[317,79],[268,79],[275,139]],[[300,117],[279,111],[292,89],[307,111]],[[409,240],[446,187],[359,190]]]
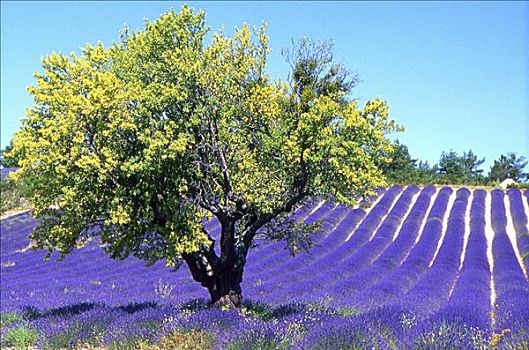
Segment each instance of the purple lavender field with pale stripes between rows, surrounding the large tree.
[[366,210],[313,200],[293,215],[322,220],[316,245],[259,242],[241,314],[209,307],[185,265],[111,260],[97,240],[45,262],[19,214],[1,222],[2,345],[529,349],[528,200],[434,186],[392,186]]

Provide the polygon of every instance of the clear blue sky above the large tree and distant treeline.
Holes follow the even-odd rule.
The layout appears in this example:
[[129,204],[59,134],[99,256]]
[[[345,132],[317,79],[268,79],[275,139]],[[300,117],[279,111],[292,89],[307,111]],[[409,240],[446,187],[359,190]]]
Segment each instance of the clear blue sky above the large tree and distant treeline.
[[[485,170],[502,153],[529,156],[528,2],[189,2],[213,30],[268,22],[269,72],[285,79],[282,47],[309,36],[335,41],[357,72],[362,102],[382,97],[406,127],[413,157],[472,149]],[[2,2],[1,146],[32,101],[26,87],[51,51],[111,44],[124,23],[141,29],[181,2]]]

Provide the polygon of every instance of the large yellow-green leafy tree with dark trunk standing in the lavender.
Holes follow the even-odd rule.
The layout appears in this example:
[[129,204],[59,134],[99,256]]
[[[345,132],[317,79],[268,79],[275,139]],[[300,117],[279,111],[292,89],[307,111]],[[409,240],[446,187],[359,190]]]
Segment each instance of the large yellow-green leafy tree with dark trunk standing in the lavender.
[[[289,213],[383,185],[375,159],[398,127],[385,102],[347,98],[329,45],[294,47],[291,81],[273,82],[264,25],[206,43],[208,31],[204,12],[184,6],[109,48],[47,56],[15,176],[40,218],[38,248],[64,255],[99,235],[113,258],[185,262],[212,302],[238,308],[256,235],[310,244],[314,227]],[[220,254],[205,216],[220,222]]]

